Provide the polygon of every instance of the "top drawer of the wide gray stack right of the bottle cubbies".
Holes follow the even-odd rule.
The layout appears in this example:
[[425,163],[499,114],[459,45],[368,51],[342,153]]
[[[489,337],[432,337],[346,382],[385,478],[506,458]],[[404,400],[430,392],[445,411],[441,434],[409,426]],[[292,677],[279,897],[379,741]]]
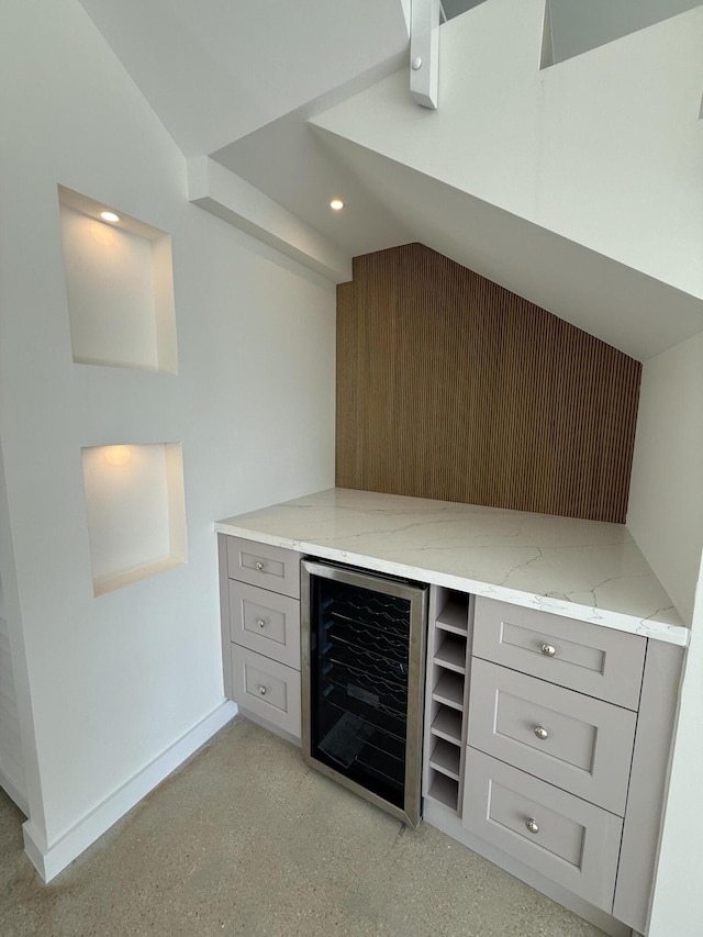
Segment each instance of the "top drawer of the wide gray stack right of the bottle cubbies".
[[636,710],[647,639],[493,599],[476,600],[473,654]]

